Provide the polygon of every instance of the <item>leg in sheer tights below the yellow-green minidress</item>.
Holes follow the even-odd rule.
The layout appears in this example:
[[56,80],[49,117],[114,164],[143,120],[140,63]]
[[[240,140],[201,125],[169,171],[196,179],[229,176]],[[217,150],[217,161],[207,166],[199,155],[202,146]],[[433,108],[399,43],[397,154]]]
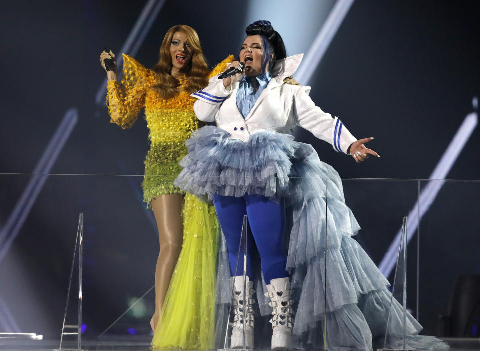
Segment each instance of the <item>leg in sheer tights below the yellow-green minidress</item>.
[[155,314],[150,321],[153,332],[160,318],[163,301],[181,251],[183,241],[182,204],[183,196],[179,194],[162,195],[151,201],[160,239],[160,253],[155,270]]

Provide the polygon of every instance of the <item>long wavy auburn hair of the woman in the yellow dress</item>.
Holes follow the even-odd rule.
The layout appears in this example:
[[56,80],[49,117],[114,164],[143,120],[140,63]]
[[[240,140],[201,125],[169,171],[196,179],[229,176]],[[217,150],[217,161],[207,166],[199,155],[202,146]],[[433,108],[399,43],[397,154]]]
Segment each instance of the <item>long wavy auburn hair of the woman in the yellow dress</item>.
[[190,62],[188,62],[188,66],[186,67],[185,90],[193,93],[208,85],[208,65],[206,64],[205,56],[203,56],[198,34],[195,29],[188,25],[175,25],[166,32],[160,47],[160,60],[153,67],[153,70],[158,76],[157,83],[153,88],[157,90],[163,98],[173,97],[177,93],[176,88],[180,83],[178,79],[171,75],[173,64],[170,54],[171,40],[173,35],[178,31],[186,35],[190,48],[193,51]]

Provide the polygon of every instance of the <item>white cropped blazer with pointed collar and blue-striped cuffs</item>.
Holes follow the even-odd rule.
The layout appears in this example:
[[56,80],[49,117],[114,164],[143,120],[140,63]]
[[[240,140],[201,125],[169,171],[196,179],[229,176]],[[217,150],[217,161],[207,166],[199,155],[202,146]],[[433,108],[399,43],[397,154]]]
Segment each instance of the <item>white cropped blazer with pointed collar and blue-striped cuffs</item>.
[[299,54],[277,61],[273,78],[246,118],[236,105],[239,82],[234,82],[231,89],[226,90],[217,76],[212,77],[206,88],[191,94],[198,99],[193,106],[196,116],[205,122],[216,122],[219,128],[231,134],[231,139],[244,142],[257,132],[288,133],[299,125],[329,142],[336,151],[346,153],[356,138],[343,123],[315,106],[308,95],[311,87],[283,82],[285,77],[293,75],[302,58],[303,54]]

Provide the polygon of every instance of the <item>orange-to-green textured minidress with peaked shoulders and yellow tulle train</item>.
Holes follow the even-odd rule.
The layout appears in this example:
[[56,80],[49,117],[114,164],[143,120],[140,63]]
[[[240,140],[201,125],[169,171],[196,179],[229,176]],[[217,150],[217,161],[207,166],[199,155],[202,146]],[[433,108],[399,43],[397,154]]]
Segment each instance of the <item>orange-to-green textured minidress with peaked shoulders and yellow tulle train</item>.
[[[222,72],[229,56],[210,76]],[[152,88],[156,74],[123,54],[121,84],[108,82],[107,106],[111,122],[123,129],[135,123],[140,110],[145,116],[151,148],[145,160],[144,200],[148,204],[164,194],[183,194],[173,181],[186,154],[185,140],[199,127],[193,111],[195,99],[184,90],[163,99]],[[160,320],[152,340],[153,348],[207,350],[214,343],[215,264],[218,220],[212,205],[186,194],[183,206],[183,245],[163,303]]]

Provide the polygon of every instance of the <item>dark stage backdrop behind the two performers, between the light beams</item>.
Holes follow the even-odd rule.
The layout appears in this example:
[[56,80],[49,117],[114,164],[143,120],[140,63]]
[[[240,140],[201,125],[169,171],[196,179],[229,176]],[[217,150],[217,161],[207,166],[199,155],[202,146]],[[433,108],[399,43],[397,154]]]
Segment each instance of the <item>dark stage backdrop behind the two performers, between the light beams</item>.
[[[229,1],[167,0],[134,56],[153,66],[164,33],[181,23],[198,31],[213,66],[237,53],[245,26],[256,19],[272,22],[288,54],[299,53],[291,47],[307,51],[334,1],[319,3],[243,1],[238,9]],[[0,332],[15,329],[7,322],[13,319],[17,331],[59,336],[79,212],[85,213],[86,334],[98,335],[154,283],[157,234],[140,188],[146,123],[140,117],[121,130],[109,123],[104,101],[95,103],[105,78],[101,49],[109,45],[119,54],[145,4],[2,3],[0,228],[65,112],[76,108],[78,122],[51,169],[57,175],[48,177],[0,262],[7,306],[0,309]],[[316,104],[356,137],[375,137],[370,146],[381,158],[356,164],[307,132],[297,139],[312,143],[341,177],[428,179],[480,93],[479,9],[477,1],[355,1],[308,84]],[[447,178],[480,179],[479,143],[476,127]],[[357,239],[375,263],[426,183],[344,181],[347,204],[362,226]],[[447,182],[422,219],[420,240],[414,236],[408,247],[408,304],[416,314],[420,245],[419,320],[426,333],[436,333],[456,274],[480,271],[479,195],[479,182]],[[115,332],[148,332],[153,295],[138,306]]]

